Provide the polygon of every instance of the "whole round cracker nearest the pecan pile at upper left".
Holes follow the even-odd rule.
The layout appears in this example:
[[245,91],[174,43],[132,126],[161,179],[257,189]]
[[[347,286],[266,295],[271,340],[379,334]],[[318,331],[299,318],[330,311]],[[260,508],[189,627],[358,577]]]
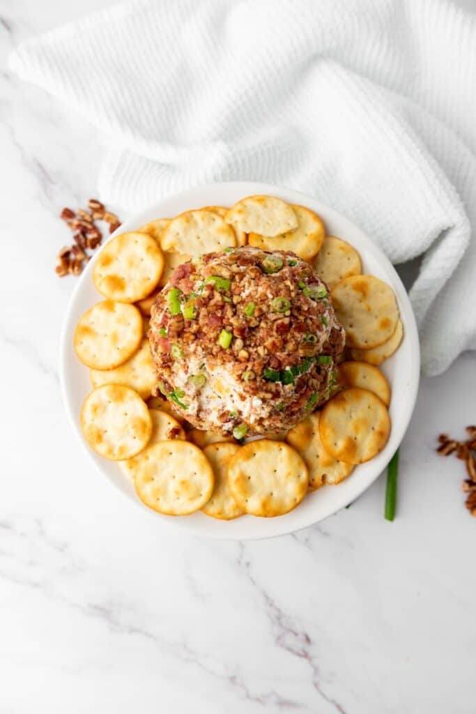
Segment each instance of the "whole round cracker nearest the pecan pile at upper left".
[[161,279],[163,255],[147,233],[121,233],[101,249],[93,266],[98,291],[123,303],[135,303],[151,294]]

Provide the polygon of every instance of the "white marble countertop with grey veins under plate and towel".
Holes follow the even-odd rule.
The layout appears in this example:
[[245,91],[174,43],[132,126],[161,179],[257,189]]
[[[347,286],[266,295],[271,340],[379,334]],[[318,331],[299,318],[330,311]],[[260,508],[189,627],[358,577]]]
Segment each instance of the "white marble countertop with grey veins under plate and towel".
[[0,0],[1,713],[474,713],[476,521],[462,463],[434,449],[476,420],[475,354],[422,380],[394,523],[380,478],[295,535],[198,540],[79,450],[57,365],[74,279],[54,258],[59,211],[96,193],[101,136],[5,59],[106,4]]

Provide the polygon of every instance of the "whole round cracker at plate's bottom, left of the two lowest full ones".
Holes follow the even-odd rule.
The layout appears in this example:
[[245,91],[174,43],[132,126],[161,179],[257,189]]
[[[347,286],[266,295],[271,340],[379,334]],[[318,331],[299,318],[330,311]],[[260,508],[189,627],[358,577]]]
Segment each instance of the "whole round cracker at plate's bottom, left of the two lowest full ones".
[[138,497],[153,511],[186,516],[205,506],[213,491],[213,470],[198,446],[161,441],[134,460]]

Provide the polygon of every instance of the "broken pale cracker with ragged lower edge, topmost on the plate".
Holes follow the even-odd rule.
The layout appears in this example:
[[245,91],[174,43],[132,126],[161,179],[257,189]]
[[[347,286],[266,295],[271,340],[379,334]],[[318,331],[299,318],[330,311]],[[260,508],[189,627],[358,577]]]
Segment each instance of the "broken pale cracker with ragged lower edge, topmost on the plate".
[[226,214],[226,222],[245,233],[280,236],[298,228],[292,206],[275,196],[247,196],[237,201]]

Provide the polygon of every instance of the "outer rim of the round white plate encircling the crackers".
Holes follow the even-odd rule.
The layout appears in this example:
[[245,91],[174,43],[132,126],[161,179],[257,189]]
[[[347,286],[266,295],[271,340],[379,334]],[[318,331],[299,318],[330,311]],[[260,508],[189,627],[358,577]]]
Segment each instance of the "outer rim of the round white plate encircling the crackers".
[[[133,216],[128,218],[127,221],[124,221],[124,223],[116,231],[114,231],[114,233],[111,233],[111,235],[108,236],[108,238],[106,239],[106,241],[103,242],[102,245],[105,245],[108,241],[110,241],[114,236],[118,235],[119,233],[134,230],[135,228],[138,228],[138,226],[141,226],[144,223],[153,220],[153,218],[150,218],[152,214],[155,214],[155,217],[157,218],[157,216],[159,216],[161,211],[163,210],[160,208],[163,204],[188,203],[188,208],[192,208],[194,203],[197,206],[217,205],[221,201],[215,200],[216,196],[214,196],[213,203],[210,202],[210,198],[195,198],[195,196],[199,196],[202,193],[219,193],[220,191],[223,191],[225,193],[236,192],[237,195],[240,194],[240,197],[252,196],[258,193],[265,193],[278,196],[280,198],[283,198],[285,201],[291,203],[302,203],[303,205],[308,206],[309,208],[313,208],[314,206],[313,210],[315,210],[322,216],[324,223],[337,222],[342,223],[344,226],[348,227],[350,229],[350,235],[353,234],[354,236],[358,236],[358,241],[363,244],[365,250],[371,254],[372,258],[375,259],[375,261],[378,261],[379,266],[382,268],[383,272],[390,273],[391,283],[393,289],[395,290],[397,302],[400,308],[400,318],[402,318],[402,323],[404,326],[405,340],[410,342],[410,352],[412,354],[412,361],[410,361],[409,372],[407,374],[409,378],[409,393],[407,393],[406,395],[407,398],[405,401],[404,413],[401,416],[400,421],[397,423],[397,433],[395,433],[394,423],[392,423],[393,428],[392,432],[390,433],[390,439],[388,441],[387,446],[385,446],[385,449],[378,456],[368,462],[368,464],[372,464],[373,462],[375,463],[375,474],[372,477],[368,477],[365,480],[365,484],[363,486],[359,484],[358,481],[355,481],[355,479],[354,481],[352,481],[352,476],[350,476],[347,481],[344,481],[343,483],[339,484],[339,488],[342,488],[345,483],[348,484],[345,489],[342,489],[343,498],[340,499],[340,501],[342,502],[339,503],[338,506],[332,506],[330,508],[324,509],[321,508],[323,513],[321,513],[320,515],[316,514],[315,516],[311,516],[310,518],[305,518],[305,514],[303,513],[303,516],[301,518],[299,518],[299,516],[298,518],[296,518],[296,516],[294,516],[293,518],[288,518],[288,516],[292,516],[292,514],[296,514],[299,512],[298,507],[294,511],[285,514],[285,516],[279,516],[278,518],[254,518],[253,516],[242,516],[241,518],[238,518],[235,521],[218,521],[215,518],[208,518],[207,516],[204,516],[202,513],[200,513],[199,515],[202,518],[205,518],[206,521],[204,521],[204,527],[198,528],[196,526],[196,523],[198,521],[193,520],[194,516],[197,516],[198,514],[182,517],[163,516],[162,514],[156,513],[150,508],[144,506],[135,493],[126,492],[126,488],[124,486],[121,486],[118,483],[117,479],[112,478],[109,473],[107,473],[106,464],[111,464],[114,462],[108,462],[102,459],[95,452],[93,452],[84,441],[78,423],[79,414],[77,414],[73,409],[71,395],[69,391],[70,387],[68,379],[68,360],[70,357],[69,351],[71,351],[72,347],[70,336],[71,332],[74,331],[74,326],[76,326],[76,322],[71,325],[72,321],[74,320],[73,313],[76,307],[76,303],[79,301],[79,296],[81,296],[81,294],[83,293],[86,282],[91,278],[93,264],[96,261],[100,250],[94,253],[93,257],[91,258],[91,261],[88,262],[86,269],[81,274],[79,281],[74,288],[74,291],[71,293],[68,305],[66,307],[66,312],[64,314],[59,342],[59,378],[61,385],[61,396],[64,402],[64,408],[66,410],[66,414],[68,416],[68,421],[71,425],[71,428],[76,434],[76,438],[78,438],[79,442],[81,443],[83,451],[88,455],[90,463],[93,463],[93,466],[96,468],[96,470],[99,471],[102,476],[106,478],[107,481],[109,481],[109,483],[111,483],[116,488],[116,491],[120,491],[120,493],[129,502],[136,503],[136,506],[141,508],[142,511],[146,511],[154,519],[154,521],[156,521],[156,523],[166,523],[166,525],[171,527],[179,526],[182,530],[189,531],[195,535],[208,538],[216,538],[218,540],[260,540],[265,538],[275,538],[279,535],[295,533],[297,531],[302,530],[303,528],[308,528],[309,526],[313,526],[316,523],[320,523],[320,521],[323,521],[325,518],[328,518],[329,516],[338,513],[338,511],[345,508],[345,506],[348,506],[349,503],[352,503],[353,501],[355,501],[356,498],[358,498],[365,491],[367,491],[367,489],[370,488],[373,483],[375,483],[375,481],[379,478],[383,471],[385,471],[385,467],[388,465],[390,458],[393,456],[393,453],[396,451],[396,449],[400,446],[400,443],[402,442],[402,439],[405,436],[405,433],[410,423],[410,419],[412,417],[412,413],[415,408],[418,386],[420,382],[420,342],[418,338],[415,315],[412,311],[412,306],[407,296],[407,291],[405,290],[405,286],[403,285],[397,271],[395,271],[395,268],[393,267],[392,263],[390,263],[390,260],[387,258],[387,256],[385,256],[385,253],[383,253],[380,247],[376,243],[374,243],[374,241],[369,238],[369,236],[361,228],[359,228],[359,226],[356,226],[353,221],[350,221],[349,218],[343,216],[339,211],[336,211],[334,208],[326,206],[324,203],[319,201],[318,198],[313,198],[312,196],[308,196],[308,194],[303,193],[301,191],[296,191],[293,188],[287,188],[285,186],[278,186],[275,184],[255,181],[218,181],[215,183],[206,183],[203,185],[193,186],[192,188],[186,188],[181,191],[173,191],[171,193],[168,193],[166,196],[163,196],[162,198],[158,199],[158,201],[154,201],[148,207],[143,208],[141,211],[138,211],[138,213],[135,213]],[[235,198],[234,200],[238,200],[238,198]],[[186,209],[187,208],[181,208],[179,210]],[[345,240],[348,240],[348,242],[353,245],[352,239],[350,237],[348,237],[347,235],[342,235],[341,237],[343,237]],[[358,246],[356,246],[356,249],[359,250]],[[360,250],[361,249],[362,246],[360,246]],[[101,296],[98,296],[98,298],[101,299]],[[402,316],[403,311],[405,312],[405,320]],[[82,365],[79,361],[77,363],[77,366],[79,366],[79,368],[84,368],[87,370],[87,367]],[[389,448],[390,445],[392,447],[391,449]],[[378,468],[376,466],[377,462],[375,462],[375,460],[378,460]],[[103,461],[106,461],[106,464],[103,464]],[[361,466],[367,465],[364,464]],[[357,468],[359,467],[356,467],[356,470]],[[349,484],[351,484],[351,486],[349,486]],[[336,487],[326,486],[324,488]],[[317,493],[322,491],[323,489],[319,489]],[[311,512],[312,511],[313,509],[311,508]],[[239,522],[243,523],[243,521],[246,521],[247,523],[250,523],[249,519],[253,519],[255,523],[260,523],[258,529],[254,526],[251,526],[250,533],[246,533],[246,531],[243,531],[243,528],[230,528],[230,526],[233,526],[233,524],[237,524]],[[295,523],[295,521],[298,521],[298,523]],[[220,526],[222,526],[222,528],[220,528]],[[259,532],[261,529],[263,530],[263,533]],[[238,531],[238,533],[233,531]]]

